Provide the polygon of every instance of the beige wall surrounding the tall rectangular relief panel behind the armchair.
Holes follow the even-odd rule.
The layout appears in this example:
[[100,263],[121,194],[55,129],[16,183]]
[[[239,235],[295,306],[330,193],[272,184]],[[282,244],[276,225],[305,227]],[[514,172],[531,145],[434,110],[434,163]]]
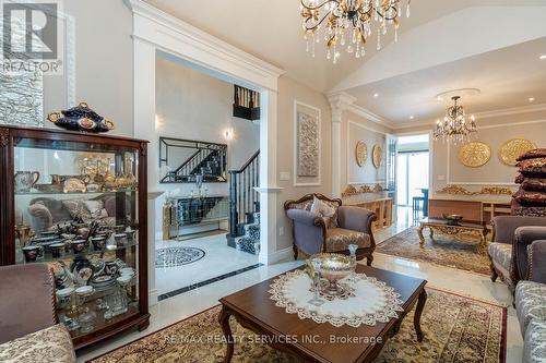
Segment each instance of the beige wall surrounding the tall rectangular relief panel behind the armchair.
[[[321,113],[321,184],[318,186],[294,186],[294,162],[296,146],[294,143],[294,102],[302,104],[320,109]],[[283,235],[277,238],[277,250],[292,246],[292,222],[286,218],[283,204],[287,199],[295,199],[307,193],[323,193],[330,195],[332,192],[332,168],[331,168],[331,138],[332,117],[330,106],[324,95],[314,92],[289,77],[282,76],[278,80],[278,140],[277,140],[277,170],[288,172],[288,181],[280,180],[278,186],[283,190],[277,197],[277,234],[284,229]]]

